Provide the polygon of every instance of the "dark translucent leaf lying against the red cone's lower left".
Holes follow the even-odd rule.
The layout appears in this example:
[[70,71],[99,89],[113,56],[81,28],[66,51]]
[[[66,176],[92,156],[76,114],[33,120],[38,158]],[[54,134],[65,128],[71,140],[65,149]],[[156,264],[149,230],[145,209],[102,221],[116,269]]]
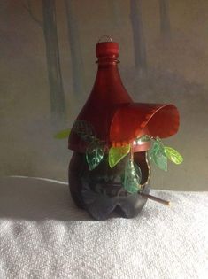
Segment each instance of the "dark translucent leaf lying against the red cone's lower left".
[[76,120],[73,125],[73,132],[81,136],[81,139],[86,142],[96,140],[96,132],[88,121]]

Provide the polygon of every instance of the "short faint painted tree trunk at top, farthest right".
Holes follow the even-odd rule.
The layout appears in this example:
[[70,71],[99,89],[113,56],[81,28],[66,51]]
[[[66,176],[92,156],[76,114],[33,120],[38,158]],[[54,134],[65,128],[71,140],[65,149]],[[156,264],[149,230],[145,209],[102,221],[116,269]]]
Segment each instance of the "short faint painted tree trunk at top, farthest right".
[[171,36],[171,24],[169,15],[169,0],[159,0],[160,31],[165,39]]

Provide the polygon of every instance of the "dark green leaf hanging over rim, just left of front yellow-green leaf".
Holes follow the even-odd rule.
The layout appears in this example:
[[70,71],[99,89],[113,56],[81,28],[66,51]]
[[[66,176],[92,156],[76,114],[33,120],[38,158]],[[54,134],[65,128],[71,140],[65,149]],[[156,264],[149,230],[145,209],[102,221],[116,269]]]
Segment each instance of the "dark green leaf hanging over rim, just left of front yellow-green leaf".
[[89,164],[89,170],[95,169],[104,158],[105,145],[98,141],[89,143],[86,151],[86,159]]

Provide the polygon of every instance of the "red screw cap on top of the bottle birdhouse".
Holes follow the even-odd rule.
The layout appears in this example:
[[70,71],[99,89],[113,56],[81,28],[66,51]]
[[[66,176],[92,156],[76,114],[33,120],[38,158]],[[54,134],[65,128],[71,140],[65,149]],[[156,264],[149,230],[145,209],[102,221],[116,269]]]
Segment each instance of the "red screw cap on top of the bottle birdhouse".
[[102,42],[96,43],[96,57],[106,56],[119,56],[119,43],[114,42]]

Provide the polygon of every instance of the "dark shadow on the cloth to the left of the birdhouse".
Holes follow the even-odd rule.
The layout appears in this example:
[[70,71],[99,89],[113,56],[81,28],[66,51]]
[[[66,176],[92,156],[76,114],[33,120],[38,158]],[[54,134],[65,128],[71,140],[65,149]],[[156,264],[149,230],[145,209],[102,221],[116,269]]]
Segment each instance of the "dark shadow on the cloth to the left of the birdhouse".
[[0,219],[88,221],[65,182],[10,176],[0,178]]

